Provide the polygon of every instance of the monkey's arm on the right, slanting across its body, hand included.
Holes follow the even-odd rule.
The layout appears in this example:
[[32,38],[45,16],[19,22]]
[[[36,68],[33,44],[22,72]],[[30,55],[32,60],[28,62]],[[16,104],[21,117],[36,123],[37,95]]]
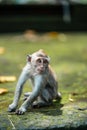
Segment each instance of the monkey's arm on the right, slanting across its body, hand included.
[[35,101],[35,99],[37,99],[43,87],[45,86],[44,85],[45,79],[43,79],[42,76],[38,75],[38,76],[35,76],[34,78],[35,78],[34,79],[35,86],[34,86],[33,92],[17,111],[17,114],[19,115],[24,114],[24,112],[26,112],[28,107],[33,103],[33,101]]

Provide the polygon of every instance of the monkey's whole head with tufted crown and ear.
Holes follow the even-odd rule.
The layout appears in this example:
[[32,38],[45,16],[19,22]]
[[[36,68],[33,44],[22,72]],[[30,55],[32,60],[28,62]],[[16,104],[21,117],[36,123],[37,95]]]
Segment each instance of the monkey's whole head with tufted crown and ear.
[[48,69],[50,58],[43,50],[39,50],[32,55],[27,55],[27,61],[36,73],[44,73]]

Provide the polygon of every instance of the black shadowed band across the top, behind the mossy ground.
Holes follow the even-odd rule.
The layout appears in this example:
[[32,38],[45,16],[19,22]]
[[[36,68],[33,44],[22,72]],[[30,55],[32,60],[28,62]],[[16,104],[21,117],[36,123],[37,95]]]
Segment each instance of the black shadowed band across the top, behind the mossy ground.
[[0,5],[0,33],[87,31],[86,4],[70,4],[70,15],[71,21],[63,20],[62,5]]

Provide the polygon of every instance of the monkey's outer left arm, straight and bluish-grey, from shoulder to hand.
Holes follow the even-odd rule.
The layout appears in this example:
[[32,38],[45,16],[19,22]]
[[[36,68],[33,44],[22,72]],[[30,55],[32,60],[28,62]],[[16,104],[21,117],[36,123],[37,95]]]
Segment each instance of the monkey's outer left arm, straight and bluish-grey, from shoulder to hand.
[[22,93],[23,85],[28,78],[29,78],[28,71],[25,67],[19,77],[19,80],[18,80],[18,83],[16,86],[16,90],[15,90],[15,96],[14,96],[13,103],[9,105],[9,109],[8,109],[9,112],[16,110],[18,101],[19,101],[21,93]]

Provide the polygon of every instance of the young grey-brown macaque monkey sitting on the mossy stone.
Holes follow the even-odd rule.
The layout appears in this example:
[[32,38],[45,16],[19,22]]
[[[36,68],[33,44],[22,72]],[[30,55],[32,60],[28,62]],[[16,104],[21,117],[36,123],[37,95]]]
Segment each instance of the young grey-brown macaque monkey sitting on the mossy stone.
[[48,106],[51,105],[53,99],[61,99],[57,80],[49,62],[50,58],[43,50],[27,55],[27,64],[19,77],[13,103],[8,108],[9,112],[16,111],[23,85],[28,79],[32,82],[33,91],[25,93],[27,98],[16,114],[24,114],[30,106]]

